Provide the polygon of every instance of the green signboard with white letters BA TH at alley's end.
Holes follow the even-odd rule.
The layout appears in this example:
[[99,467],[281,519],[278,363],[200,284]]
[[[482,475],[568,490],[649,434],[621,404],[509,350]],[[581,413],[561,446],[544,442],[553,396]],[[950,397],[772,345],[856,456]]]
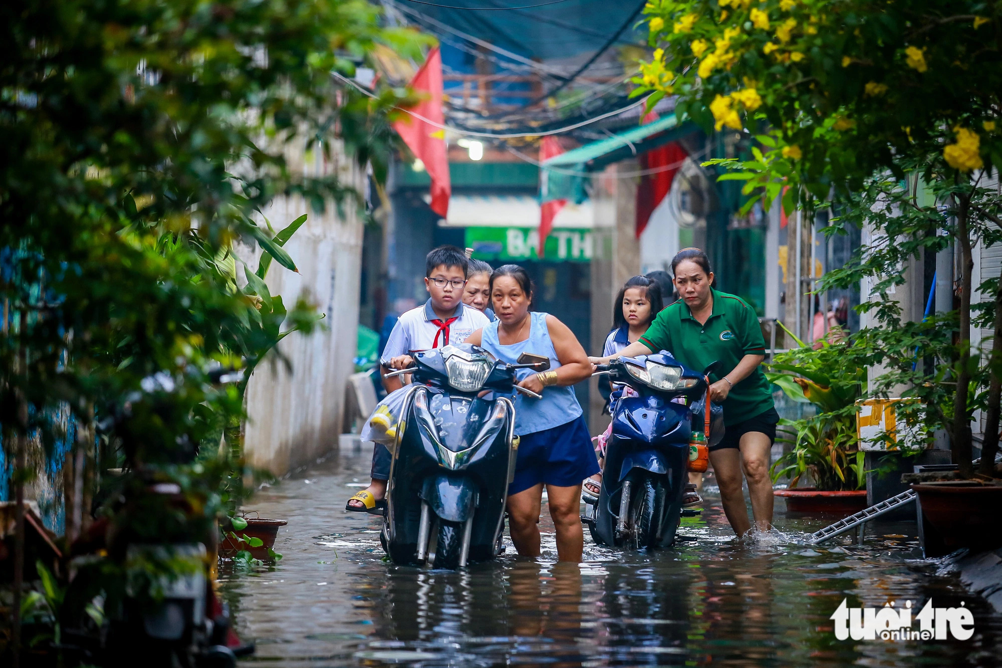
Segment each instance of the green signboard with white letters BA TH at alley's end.
[[[539,230],[536,228],[466,228],[466,246],[478,260],[538,260]],[[591,260],[590,230],[556,229],[546,238],[548,261]]]

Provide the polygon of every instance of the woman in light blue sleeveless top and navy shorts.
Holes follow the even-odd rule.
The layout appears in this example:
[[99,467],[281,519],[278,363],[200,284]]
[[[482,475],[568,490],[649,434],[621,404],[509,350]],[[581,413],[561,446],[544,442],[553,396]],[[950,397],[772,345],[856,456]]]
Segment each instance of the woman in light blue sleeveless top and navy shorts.
[[497,320],[474,332],[467,343],[479,345],[500,360],[516,363],[524,352],[550,359],[548,371],[517,371],[518,384],[542,394],[515,396],[515,433],[520,436],[515,479],[508,485],[508,528],[518,554],[538,557],[539,512],[543,485],[557,533],[560,561],[580,562],[581,480],[598,472],[588,427],[572,385],[591,375],[584,348],[552,315],[529,311],[532,283],[517,265],[491,275],[491,301]]

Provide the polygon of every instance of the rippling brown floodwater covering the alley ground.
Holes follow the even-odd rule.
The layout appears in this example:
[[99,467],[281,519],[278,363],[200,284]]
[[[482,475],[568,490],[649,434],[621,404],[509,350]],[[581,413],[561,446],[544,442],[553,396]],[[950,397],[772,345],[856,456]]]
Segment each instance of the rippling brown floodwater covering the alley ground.
[[[1002,616],[943,562],[921,559],[915,523],[877,524],[864,546],[843,537],[811,548],[808,534],[834,520],[788,518],[778,503],[780,534],[740,546],[710,477],[703,516],[683,521],[690,540],[673,550],[597,548],[585,532],[584,563],[557,564],[544,510],[540,559],[515,557],[505,537],[494,563],[428,571],[385,562],[380,520],[344,512],[370,451],[334,454],[248,502],[289,525],[277,565],[220,574],[237,633],[258,647],[242,665],[1002,665]],[[845,598],[921,607],[930,597],[936,608],[964,602],[974,635],[839,641],[829,619]]]

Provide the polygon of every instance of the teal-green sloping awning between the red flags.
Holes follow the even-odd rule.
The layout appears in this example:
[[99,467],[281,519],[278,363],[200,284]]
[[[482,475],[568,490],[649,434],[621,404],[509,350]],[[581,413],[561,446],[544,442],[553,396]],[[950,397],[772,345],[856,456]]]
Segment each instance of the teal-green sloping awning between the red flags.
[[584,180],[590,173],[598,172],[612,162],[639,155],[695,129],[692,123],[679,125],[672,113],[551,157],[540,168],[546,172],[546,189],[541,200],[583,202],[587,198]]

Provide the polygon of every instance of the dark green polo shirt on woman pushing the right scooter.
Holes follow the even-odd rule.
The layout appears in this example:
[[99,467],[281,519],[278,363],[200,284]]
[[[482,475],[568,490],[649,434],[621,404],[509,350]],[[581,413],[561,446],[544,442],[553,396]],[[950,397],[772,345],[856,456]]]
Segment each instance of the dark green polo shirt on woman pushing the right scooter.
[[[727,375],[744,355],[766,354],[766,341],[755,309],[734,295],[713,290],[713,310],[706,322],[692,318],[685,302],[666,307],[640,340],[653,351],[667,350],[696,373],[717,362],[710,373],[715,382]],[[723,401],[723,423],[737,424],[773,408],[771,386],[762,368],[735,383]]]

